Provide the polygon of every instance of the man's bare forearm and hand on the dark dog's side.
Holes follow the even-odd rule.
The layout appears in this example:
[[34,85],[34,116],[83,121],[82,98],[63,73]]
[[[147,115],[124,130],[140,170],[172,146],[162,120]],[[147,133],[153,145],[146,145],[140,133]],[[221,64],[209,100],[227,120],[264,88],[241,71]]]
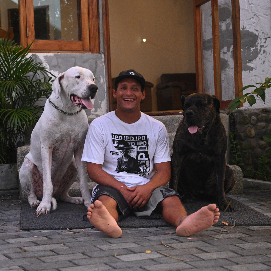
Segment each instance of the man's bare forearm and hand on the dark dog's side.
[[133,193],[128,198],[127,202],[134,209],[142,208],[146,202],[150,199],[151,193],[159,186],[166,185],[170,180],[170,162],[163,162],[155,164],[156,174],[151,178],[149,182],[144,185],[137,185],[127,190]]

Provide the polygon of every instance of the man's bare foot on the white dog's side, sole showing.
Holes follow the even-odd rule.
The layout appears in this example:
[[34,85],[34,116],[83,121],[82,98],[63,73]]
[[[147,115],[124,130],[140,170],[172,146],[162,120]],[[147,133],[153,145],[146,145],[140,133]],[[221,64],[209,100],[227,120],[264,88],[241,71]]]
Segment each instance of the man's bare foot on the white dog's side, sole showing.
[[96,200],[88,207],[88,220],[95,228],[109,237],[118,238],[121,236],[121,228],[101,201]]

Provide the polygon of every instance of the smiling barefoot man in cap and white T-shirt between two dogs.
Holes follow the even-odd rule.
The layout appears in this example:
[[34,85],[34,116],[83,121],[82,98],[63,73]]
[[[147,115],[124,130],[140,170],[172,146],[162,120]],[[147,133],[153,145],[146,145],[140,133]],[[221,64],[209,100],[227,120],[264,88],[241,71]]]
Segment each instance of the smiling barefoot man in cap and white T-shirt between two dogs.
[[[126,70],[115,80],[113,96],[117,109],[92,121],[86,136],[82,160],[89,177],[98,185],[88,208],[89,221],[110,237],[120,237],[117,222],[132,211],[138,217],[156,217],[177,227],[180,236],[189,236],[218,221],[215,204],[187,215],[178,193],[164,187],[170,179],[170,150],[164,125],[140,112],[145,98],[145,79],[135,70]],[[117,172],[118,141],[129,144],[130,154],[141,171]],[[142,172],[145,174],[142,176]]]

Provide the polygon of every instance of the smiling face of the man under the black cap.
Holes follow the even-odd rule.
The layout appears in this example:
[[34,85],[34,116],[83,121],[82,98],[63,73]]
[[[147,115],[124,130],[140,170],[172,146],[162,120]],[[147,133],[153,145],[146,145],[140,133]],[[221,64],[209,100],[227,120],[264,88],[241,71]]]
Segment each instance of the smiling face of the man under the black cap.
[[145,98],[145,90],[141,92],[140,83],[132,78],[120,80],[117,90],[113,90],[117,99],[117,109],[131,112],[140,110],[140,102]]

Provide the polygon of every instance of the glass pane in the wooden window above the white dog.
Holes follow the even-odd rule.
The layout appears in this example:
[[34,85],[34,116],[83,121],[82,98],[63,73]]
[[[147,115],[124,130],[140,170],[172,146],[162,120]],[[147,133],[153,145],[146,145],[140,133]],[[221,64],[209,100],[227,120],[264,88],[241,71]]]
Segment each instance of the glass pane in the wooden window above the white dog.
[[36,39],[82,40],[80,20],[80,0],[34,0]]

